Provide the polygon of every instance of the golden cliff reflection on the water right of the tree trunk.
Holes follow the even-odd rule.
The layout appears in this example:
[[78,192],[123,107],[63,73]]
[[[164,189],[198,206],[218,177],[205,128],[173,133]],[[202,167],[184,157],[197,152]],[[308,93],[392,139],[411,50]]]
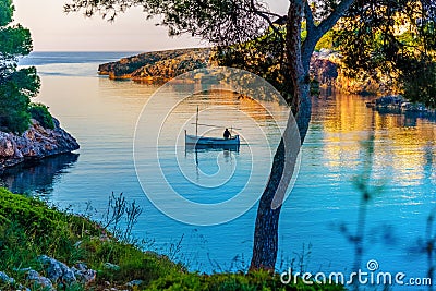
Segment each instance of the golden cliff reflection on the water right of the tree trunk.
[[[388,178],[404,186],[423,183],[436,161],[436,124],[419,116],[380,113],[366,108],[368,99],[360,96],[332,94],[314,98],[313,123],[323,126],[326,165],[332,171],[341,167],[359,168],[364,141],[374,131],[374,174]],[[433,166],[434,167],[434,166]],[[378,177],[377,177],[378,175]]]

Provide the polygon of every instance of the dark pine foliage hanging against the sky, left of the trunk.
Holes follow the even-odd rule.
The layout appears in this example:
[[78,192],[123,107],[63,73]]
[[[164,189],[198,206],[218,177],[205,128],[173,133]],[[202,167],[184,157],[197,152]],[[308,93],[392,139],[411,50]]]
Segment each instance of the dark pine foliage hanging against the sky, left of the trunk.
[[147,19],[159,16],[169,35],[190,34],[217,45],[233,45],[253,39],[268,27],[254,10],[267,10],[261,1],[245,0],[147,0],[81,1],[64,4],[66,12],[83,11],[86,16],[100,13],[113,21],[118,13],[141,5]]

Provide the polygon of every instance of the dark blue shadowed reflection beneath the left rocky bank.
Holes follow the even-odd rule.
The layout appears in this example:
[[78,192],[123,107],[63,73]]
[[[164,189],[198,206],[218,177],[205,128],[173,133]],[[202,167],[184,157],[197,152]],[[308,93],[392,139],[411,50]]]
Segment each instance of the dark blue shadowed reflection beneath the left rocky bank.
[[50,194],[53,182],[73,167],[77,158],[78,154],[63,154],[28,161],[7,169],[0,175],[0,181],[14,193]]

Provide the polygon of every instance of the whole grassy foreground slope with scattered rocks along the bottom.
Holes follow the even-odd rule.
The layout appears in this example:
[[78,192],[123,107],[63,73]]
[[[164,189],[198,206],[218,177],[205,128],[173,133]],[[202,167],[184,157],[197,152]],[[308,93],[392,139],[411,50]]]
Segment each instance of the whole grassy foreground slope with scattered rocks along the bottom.
[[[123,213],[117,207],[112,204],[109,213]],[[87,281],[81,281],[77,274],[69,279],[65,271],[53,276],[56,268],[47,268],[48,260],[57,262],[60,268],[68,268],[62,264],[86,268]],[[51,278],[51,288],[44,283],[46,280],[33,279],[32,270],[40,275],[39,279]],[[114,234],[86,215],[59,210],[5,189],[0,189],[0,271],[13,278],[5,281],[0,276],[1,290],[343,290],[334,284],[304,284],[301,279],[296,284],[283,284],[279,275],[266,271],[190,272],[182,263],[143,250],[141,243]]]

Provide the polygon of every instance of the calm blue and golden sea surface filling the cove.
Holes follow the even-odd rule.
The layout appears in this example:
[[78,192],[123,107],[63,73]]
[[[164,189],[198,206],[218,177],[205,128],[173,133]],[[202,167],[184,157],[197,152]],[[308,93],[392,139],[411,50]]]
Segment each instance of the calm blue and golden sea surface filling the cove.
[[[36,65],[41,75],[41,92],[34,101],[50,107],[62,126],[77,138],[81,149],[78,155],[12,169],[3,175],[3,183],[14,192],[38,195],[62,207],[71,205],[77,213],[93,211],[96,219],[101,217],[110,193],[122,192],[142,206],[134,235],[154,242],[153,250],[201,271],[245,268],[251,258],[255,206],[229,222],[195,227],[169,218],[144,194],[135,171],[133,141],[141,111],[158,86],[114,82],[96,74],[99,63],[130,54],[36,52],[22,61],[23,65]],[[159,97],[162,105],[171,98]],[[373,145],[371,177],[373,184],[383,185],[383,191],[374,194],[367,206],[362,269],[366,270],[367,260],[375,259],[383,271],[426,276],[426,256],[420,247],[436,198],[435,122],[413,116],[380,114],[366,108],[366,100],[339,94],[313,100],[300,173],[281,213],[279,269],[290,267],[292,259],[294,266],[300,265],[304,252],[305,270],[352,271],[354,251],[344,229],[354,233],[361,194],[353,181],[364,172],[367,149]],[[247,181],[255,195],[261,193],[270,151],[253,137],[256,132],[249,125],[254,122],[277,142],[279,135],[270,117],[250,100],[230,94],[199,95],[174,110],[166,124],[169,132],[177,126],[193,133],[194,125],[182,122],[192,120],[198,104],[201,109],[215,108],[204,110],[201,122],[240,128],[244,136],[251,136],[245,141],[249,145],[241,145],[239,151],[195,153],[178,144],[174,154],[174,143],[164,140],[159,144],[161,170],[149,168],[142,174],[153,180],[157,171],[164,172],[173,189],[196,203],[226,202]],[[159,108],[156,114],[160,114]],[[147,131],[144,125],[140,129]],[[180,135],[179,130],[177,134]],[[146,151],[153,143],[144,146],[138,165],[156,158],[156,153]],[[255,174],[253,168],[257,170]],[[195,190],[185,187],[185,181],[209,184]],[[171,206],[173,202],[166,203]],[[89,204],[94,210],[86,210]],[[180,251],[174,251],[180,241]]]

